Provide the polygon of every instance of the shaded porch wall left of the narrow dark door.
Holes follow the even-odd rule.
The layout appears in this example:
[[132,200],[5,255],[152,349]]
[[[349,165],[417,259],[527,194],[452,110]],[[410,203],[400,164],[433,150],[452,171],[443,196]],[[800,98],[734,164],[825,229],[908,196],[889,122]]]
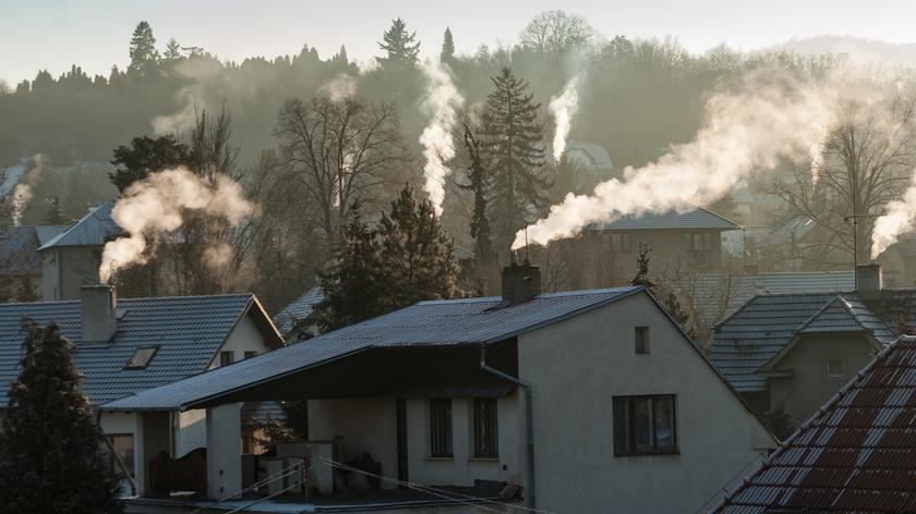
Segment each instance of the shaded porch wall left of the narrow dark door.
[[[397,407],[393,399],[310,400],[309,439],[333,441],[341,438],[342,462],[361,452],[382,464],[382,475],[397,476]],[[382,482],[385,489],[396,489]]]

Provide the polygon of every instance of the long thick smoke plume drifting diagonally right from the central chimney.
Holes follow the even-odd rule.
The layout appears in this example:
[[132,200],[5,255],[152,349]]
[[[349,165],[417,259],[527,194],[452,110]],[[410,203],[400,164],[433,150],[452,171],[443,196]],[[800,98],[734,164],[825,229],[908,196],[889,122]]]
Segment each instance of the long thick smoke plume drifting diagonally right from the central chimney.
[[[592,221],[659,211],[684,201],[706,204],[730,193],[742,179],[773,170],[782,159],[804,162],[832,126],[836,95],[854,95],[843,72],[817,84],[776,72],[745,77],[734,91],[714,94],[692,142],[676,145],[642,168],[627,168],[624,180],[599,184],[592,195],[569,194],[550,215],[527,229],[528,240],[546,244],[574,235]],[[513,248],[526,244],[526,231]]]

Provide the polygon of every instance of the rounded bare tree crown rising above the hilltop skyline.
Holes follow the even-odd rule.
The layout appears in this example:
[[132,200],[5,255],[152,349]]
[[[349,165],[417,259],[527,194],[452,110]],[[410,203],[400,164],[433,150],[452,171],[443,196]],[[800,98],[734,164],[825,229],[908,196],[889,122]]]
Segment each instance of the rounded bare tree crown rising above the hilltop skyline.
[[595,32],[582,16],[565,11],[544,11],[521,30],[521,46],[551,60],[587,48]]

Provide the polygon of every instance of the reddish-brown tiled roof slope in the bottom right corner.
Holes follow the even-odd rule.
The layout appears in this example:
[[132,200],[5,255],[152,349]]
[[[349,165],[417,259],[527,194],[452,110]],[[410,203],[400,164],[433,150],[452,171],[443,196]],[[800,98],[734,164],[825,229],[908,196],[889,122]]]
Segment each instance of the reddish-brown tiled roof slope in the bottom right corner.
[[891,344],[715,512],[916,512],[916,339]]

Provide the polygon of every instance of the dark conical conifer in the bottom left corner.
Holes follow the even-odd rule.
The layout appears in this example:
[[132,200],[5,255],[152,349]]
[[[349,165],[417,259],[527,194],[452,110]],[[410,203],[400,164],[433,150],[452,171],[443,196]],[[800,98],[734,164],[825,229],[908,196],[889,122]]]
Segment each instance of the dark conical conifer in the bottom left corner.
[[28,327],[22,372],[0,431],[0,511],[120,512],[103,433],[81,392],[73,345],[57,325]]

